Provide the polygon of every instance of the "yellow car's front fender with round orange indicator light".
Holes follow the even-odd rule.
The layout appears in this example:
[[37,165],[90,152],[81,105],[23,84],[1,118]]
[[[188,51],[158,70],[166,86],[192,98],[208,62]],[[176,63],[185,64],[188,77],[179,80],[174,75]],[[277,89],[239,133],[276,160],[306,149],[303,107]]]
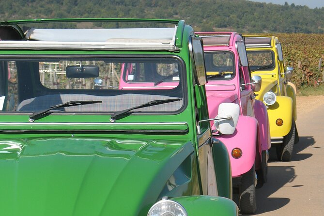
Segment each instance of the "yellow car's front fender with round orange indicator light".
[[[277,96],[276,103],[268,106],[268,116],[271,137],[286,136],[293,121],[293,99],[288,96]],[[281,126],[276,124],[277,119],[282,119]]]

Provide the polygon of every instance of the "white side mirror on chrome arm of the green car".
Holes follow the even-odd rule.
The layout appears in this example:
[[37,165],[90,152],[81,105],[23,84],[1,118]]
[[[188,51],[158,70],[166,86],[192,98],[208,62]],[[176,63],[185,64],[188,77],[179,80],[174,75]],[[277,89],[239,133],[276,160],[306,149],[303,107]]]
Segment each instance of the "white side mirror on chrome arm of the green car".
[[219,120],[215,120],[214,124],[216,129],[225,135],[231,135],[234,133],[238,117],[240,114],[240,106],[233,103],[222,103],[218,107],[218,115],[216,118],[227,117]]

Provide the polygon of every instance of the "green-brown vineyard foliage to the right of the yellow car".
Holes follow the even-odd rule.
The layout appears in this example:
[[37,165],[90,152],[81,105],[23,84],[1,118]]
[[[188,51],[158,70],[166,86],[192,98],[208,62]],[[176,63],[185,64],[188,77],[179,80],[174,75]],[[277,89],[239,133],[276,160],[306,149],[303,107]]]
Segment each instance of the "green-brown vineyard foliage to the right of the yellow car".
[[294,68],[292,82],[296,87],[324,85],[324,34],[275,35],[283,47],[285,67]]

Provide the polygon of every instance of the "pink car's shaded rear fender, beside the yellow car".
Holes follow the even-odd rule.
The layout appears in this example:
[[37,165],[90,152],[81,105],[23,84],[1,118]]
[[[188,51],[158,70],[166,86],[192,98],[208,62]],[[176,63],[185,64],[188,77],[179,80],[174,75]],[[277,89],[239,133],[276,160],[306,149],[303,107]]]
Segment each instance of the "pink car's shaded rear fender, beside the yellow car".
[[266,106],[262,101],[254,101],[254,117],[258,120],[259,127],[259,138],[261,141],[261,150],[268,150],[271,147],[271,136],[270,136],[270,126],[269,117]]

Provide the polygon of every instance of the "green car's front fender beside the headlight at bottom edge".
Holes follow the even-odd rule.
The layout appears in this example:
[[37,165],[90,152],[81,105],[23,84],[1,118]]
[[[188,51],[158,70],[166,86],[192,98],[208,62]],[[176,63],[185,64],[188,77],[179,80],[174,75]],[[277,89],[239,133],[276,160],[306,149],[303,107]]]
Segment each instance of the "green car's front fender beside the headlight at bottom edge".
[[238,216],[239,210],[234,201],[224,197],[187,196],[172,198],[180,203],[188,216]]

